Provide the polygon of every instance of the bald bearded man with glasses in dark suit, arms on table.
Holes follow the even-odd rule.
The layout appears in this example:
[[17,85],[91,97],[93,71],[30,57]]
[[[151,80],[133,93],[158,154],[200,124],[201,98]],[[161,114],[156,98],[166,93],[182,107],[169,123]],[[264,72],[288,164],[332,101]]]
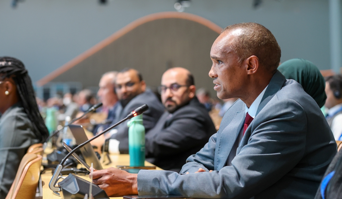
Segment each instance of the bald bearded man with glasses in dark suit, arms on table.
[[158,91],[167,111],[146,133],[146,160],[164,170],[180,172],[186,158],[198,152],[216,129],[195,96],[193,75],[185,68],[167,70]]

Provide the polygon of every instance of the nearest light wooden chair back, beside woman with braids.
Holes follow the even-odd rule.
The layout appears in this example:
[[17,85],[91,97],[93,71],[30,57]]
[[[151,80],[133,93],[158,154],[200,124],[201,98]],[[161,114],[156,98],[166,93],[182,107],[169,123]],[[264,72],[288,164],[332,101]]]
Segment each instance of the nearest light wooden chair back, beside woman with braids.
[[39,181],[42,156],[32,153],[24,155],[17,174],[5,199],[34,199]]

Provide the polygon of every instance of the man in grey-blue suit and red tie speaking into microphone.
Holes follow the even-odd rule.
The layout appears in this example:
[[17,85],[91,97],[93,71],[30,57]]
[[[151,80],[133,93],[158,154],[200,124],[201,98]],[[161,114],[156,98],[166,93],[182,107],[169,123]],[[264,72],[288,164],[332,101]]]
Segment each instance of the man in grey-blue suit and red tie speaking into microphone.
[[337,146],[317,103],[277,70],[280,54],[262,25],[228,26],[212,45],[209,76],[219,98],[240,100],[219,131],[181,174],[109,168],[95,171],[93,182],[110,196],[314,198]]

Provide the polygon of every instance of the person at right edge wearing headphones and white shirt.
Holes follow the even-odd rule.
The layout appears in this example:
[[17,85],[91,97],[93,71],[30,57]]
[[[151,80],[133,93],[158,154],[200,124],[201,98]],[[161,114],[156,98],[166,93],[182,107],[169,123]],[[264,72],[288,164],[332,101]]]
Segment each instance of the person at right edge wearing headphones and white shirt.
[[325,92],[326,116],[335,140],[342,140],[342,75],[333,75],[326,78]]

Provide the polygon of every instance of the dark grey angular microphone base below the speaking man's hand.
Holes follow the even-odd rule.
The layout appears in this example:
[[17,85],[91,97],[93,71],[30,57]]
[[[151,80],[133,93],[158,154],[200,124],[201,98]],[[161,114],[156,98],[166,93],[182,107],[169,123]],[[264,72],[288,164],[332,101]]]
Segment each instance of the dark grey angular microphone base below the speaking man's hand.
[[69,174],[58,185],[61,187],[60,195],[63,199],[84,199],[89,194],[89,186],[92,186],[92,195],[94,199],[109,199],[106,192],[99,186],[88,182],[74,174]]

